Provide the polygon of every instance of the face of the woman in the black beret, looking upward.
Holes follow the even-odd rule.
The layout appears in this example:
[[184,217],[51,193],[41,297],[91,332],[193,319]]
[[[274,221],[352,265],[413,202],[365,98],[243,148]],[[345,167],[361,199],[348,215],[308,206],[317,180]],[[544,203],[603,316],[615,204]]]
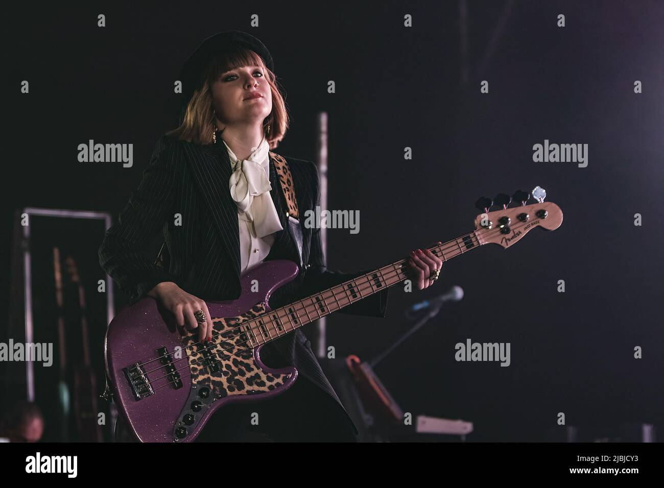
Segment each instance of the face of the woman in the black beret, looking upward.
[[[260,95],[256,98],[250,96]],[[261,124],[272,111],[272,92],[261,66],[222,73],[212,84],[212,106],[224,125]]]

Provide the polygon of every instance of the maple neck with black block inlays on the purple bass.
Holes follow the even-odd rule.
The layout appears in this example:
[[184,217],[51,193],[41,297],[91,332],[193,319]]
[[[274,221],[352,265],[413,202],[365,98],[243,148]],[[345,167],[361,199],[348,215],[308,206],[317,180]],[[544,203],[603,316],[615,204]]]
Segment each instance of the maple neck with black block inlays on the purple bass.
[[[428,248],[443,262],[485,244],[476,232]],[[400,260],[339,285],[272,310],[242,325],[242,340],[252,347],[263,345],[307,323],[343,309],[408,279],[406,263]]]

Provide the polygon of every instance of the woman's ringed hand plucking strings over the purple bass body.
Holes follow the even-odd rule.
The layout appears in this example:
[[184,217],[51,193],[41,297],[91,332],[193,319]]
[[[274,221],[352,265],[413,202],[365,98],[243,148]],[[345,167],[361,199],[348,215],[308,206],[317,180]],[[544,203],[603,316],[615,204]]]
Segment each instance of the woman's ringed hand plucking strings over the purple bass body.
[[[212,340],[212,318],[205,301],[187,293],[173,282],[161,282],[151,289],[147,295],[159,300],[165,309],[175,315],[175,323],[178,327],[184,327],[188,331],[192,331],[192,335],[193,331],[198,329],[199,341],[201,342],[205,339]],[[194,317],[194,312],[198,310],[203,310],[203,313],[205,313],[205,322],[200,324]]]

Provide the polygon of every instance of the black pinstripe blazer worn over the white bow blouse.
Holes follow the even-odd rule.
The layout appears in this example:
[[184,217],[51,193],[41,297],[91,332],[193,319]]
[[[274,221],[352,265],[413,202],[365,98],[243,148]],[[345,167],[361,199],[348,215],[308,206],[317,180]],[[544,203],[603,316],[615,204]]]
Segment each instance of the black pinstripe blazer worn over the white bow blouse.
[[[303,221],[304,212],[315,210],[320,204],[318,171],[310,161],[285,159]],[[240,232],[237,206],[228,189],[231,170],[223,143],[199,145],[168,135],[159,138],[143,171],[143,180],[131,193],[118,222],[108,229],[99,248],[100,265],[129,295],[130,304],[145,297],[161,282],[175,282],[204,300],[240,296]],[[272,157],[270,183],[270,194],[284,230],[277,233],[266,260],[288,259],[299,263],[297,248],[288,232],[286,197]],[[175,225],[175,214],[181,214],[181,225]],[[301,228],[302,261],[309,267],[273,293],[270,297],[273,309],[370,271],[346,274],[327,270],[320,229]],[[162,267],[143,254],[160,230],[168,250]],[[384,289],[357,301],[339,313],[384,317],[388,291]],[[346,413],[300,329],[268,343],[263,351],[264,357],[276,353],[286,364],[295,366]],[[357,432],[352,421],[351,426]]]

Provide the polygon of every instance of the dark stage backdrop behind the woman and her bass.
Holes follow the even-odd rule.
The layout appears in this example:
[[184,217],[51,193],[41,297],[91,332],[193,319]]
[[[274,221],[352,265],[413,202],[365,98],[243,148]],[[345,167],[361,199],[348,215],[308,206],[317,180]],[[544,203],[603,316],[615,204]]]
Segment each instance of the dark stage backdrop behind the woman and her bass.
[[[655,424],[661,440],[664,5],[469,1],[465,55],[459,5],[14,5],[5,27],[1,306],[9,307],[14,210],[116,218],[155,141],[175,127],[181,64],[208,36],[240,29],[268,46],[286,89],[291,128],[277,153],[315,159],[315,117],[329,114],[328,208],[360,212],[359,234],[327,231],[329,268],[382,266],[470,232],[481,195],[540,185],[564,212],[555,232],[451,261],[434,287],[392,289],[385,319],[333,315],[337,357],[373,357],[406,327],[405,307],[457,284],[463,301],[376,370],[404,411],[474,422],[468,440],[545,440],[558,412],[588,429]],[[406,13],[412,28],[403,27]],[[260,27],[250,27],[252,14]],[[20,93],[22,80],[30,94]],[[633,92],[635,80],[643,93]],[[133,143],[133,167],[79,163],[88,139]],[[588,167],[534,163],[533,144],[544,139],[588,143]],[[96,258],[95,246],[89,252]],[[467,338],[511,343],[511,366],[457,363],[454,345]],[[637,345],[643,359],[633,358]]]

